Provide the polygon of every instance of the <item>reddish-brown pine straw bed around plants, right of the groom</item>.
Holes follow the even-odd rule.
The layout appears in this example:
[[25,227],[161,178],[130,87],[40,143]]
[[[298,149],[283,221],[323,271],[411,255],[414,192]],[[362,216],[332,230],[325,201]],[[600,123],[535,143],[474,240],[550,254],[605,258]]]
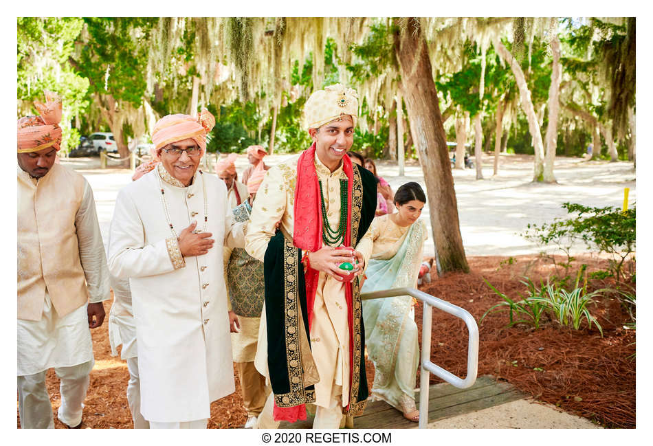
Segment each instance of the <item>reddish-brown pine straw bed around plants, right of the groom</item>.
[[[562,257],[557,258],[560,263]],[[557,322],[544,322],[540,329],[527,326],[506,328],[507,312],[493,313],[480,322],[490,306],[501,299],[485,282],[513,300],[526,287],[523,276],[540,284],[540,278],[556,273],[551,260],[541,256],[516,256],[509,265],[505,257],[469,257],[469,274],[445,274],[423,291],[461,306],[471,313],[479,328],[478,375],[494,375],[508,381],[538,401],[551,403],[565,412],[584,416],[604,427],[635,427],[635,353],[634,330],[623,325],[630,318],[621,304],[608,296],[597,300],[590,313],[604,331],[588,329],[584,322],[578,331]],[[503,263],[502,263],[503,262]],[[588,272],[606,269],[607,261],[594,255],[577,256],[570,271],[580,265]],[[564,276],[557,267],[557,276]],[[571,286],[575,276],[569,280]],[[611,279],[589,280],[588,289],[614,287]],[[421,339],[421,304],[415,320]],[[459,377],[466,375],[467,327],[456,317],[434,309],[431,360]],[[431,383],[441,379],[430,378]],[[419,383],[419,372],[417,383]]]

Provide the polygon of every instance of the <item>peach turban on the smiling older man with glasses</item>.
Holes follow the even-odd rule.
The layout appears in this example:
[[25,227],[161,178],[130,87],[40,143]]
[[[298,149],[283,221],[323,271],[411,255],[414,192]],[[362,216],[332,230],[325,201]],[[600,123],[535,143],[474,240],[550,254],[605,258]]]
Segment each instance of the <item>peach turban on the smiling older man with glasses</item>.
[[177,113],[176,115],[167,115],[154,124],[152,133],[152,142],[154,150],[159,154],[159,150],[173,142],[192,138],[202,151],[206,151],[206,134],[215,126],[215,118],[207,109],[197,113],[196,117]]

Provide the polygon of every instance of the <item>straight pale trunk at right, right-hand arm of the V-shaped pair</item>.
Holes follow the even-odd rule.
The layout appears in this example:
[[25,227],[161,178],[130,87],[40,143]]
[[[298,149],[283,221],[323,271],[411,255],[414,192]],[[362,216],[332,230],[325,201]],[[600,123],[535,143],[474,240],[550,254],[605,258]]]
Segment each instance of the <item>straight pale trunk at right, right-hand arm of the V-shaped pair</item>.
[[549,87],[549,124],[546,126],[544,142],[546,144],[546,159],[544,160],[544,182],[555,183],[553,162],[555,161],[555,146],[557,145],[557,117],[560,114],[560,79],[562,65],[560,64],[560,40],[557,34],[551,39],[553,65],[551,67],[551,86]]

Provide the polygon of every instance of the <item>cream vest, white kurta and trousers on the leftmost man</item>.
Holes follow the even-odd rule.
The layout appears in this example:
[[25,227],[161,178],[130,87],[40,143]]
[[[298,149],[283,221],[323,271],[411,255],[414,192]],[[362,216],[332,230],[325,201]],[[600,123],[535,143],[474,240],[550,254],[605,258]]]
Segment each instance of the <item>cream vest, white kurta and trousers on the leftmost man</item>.
[[[56,164],[38,180],[30,177],[21,168],[18,168],[18,176],[19,319],[16,337],[18,347],[16,375],[18,375],[21,427],[54,428],[52,406],[45,388],[45,371],[49,368],[54,368],[56,375],[61,379],[61,405],[58,419],[73,427],[82,421],[84,407],[82,401],[86,397],[89,372],[94,364],[86,301],[96,303],[110,297],[109,271],[104,256],[93,192],[89,183],[81,175]],[[54,212],[62,214],[52,219]],[[67,224],[67,218],[63,214],[66,216],[71,214],[70,223],[74,227],[57,226]],[[47,219],[48,215],[50,219]],[[56,282],[56,272],[53,275],[53,271],[50,271],[48,266],[50,263],[43,259],[41,252],[43,247],[38,249],[31,244],[33,242],[24,238],[34,236],[34,234],[23,234],[30,225],[35,226],[35,229],[30,230],[38,232],[41,243],[47,243],[46,237],[54,231],[54,234],[60,234],[62,240],[65,240],[61,246],[67,246],[78,252],[78,260],[76,256],[71,256],[67,252],[53,252],[49,247],[46,254],[49,258],[56,258],[60,271],[80,268],[85,282],[82,289],[78,290],[74,287],[74,291],[68,295],[58,290],[60,284]],[[45,228],[47,233],[41,234],[41,230]],[[73,237],[72,245],[69,245],[69,237]],[[63,264],[67,261],[72,265]],[[79,264],[75,266],[77,261]],[[30,265],[32,269],[34,265],[41,265],[36,268],[36,271],[40,272],[33,276],[26,276],[26,271],[29,271],[26,265]],[[68,272],[62,275],[65,276],[63,280],[71,280]],[[47,277],[45,285],[39,285],[43,284],[45,277]],[[66,282],[64,287],[68,286],[68,283],[70,282]],[[57,290],[56,302],[60,307],[67,309],[69,307],[67,302],[71,300],[78,302],[80,306],[60,314],[55,308],[55,298],[47,289],[48,284]],[[43,287],[42,300],[36,298],[38,296],[36,287]],[[81,294],[78,295],[78,292]],[[38,310],[34,311],[36,308]]]

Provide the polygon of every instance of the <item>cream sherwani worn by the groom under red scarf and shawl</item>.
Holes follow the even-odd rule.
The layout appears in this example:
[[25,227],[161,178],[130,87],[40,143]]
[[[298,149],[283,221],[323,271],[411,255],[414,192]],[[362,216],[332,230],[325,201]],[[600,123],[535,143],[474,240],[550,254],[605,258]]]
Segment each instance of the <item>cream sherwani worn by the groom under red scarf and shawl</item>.
[[[294,230],[294,199],[299,156],[270,168],[256,194],[252,219],[247,228],[245,249],[254,258],[263,261],[269,239],[274,236],[275,223],[280,221],[280,230],[286,238],[292,239]],[[346,179],[340,167],[334,172],[322,164],[316,155],[316,172],[322,181],[324,205],[331,227],[337,227],[340,220],[340,179]],[[360,238],[356,249],[365,258],[372,252],[372,230]],[[269,379],[267,370],[267,330],[265,307],[261,316],[258,334],[256,368]],[[342,386],[342,405],[349,401],[349,330],[344,284],[320,272],[316,299],[313,305],[313,326],[311,326],[311,349],[318,368],[320,381],[316,383],[316,405],[332,408],[333,399]]]

